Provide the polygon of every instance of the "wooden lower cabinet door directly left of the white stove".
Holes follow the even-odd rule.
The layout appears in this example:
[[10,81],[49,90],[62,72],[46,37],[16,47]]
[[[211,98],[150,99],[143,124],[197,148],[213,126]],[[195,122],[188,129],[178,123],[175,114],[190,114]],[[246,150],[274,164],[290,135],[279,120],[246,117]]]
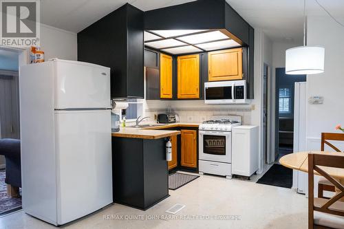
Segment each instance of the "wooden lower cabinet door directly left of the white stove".
[[197,168],[197,131],[181,130],[181,159],[182,166]]

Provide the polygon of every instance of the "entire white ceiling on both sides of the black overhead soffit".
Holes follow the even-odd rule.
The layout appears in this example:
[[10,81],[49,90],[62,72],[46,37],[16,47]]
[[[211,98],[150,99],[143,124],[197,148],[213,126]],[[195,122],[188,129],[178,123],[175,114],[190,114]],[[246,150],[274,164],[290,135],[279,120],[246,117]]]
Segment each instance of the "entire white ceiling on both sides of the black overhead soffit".
[[[41,22],[63,30],[80,32],[127,2],[147,11],[190,1],[194,0],[44,0],[41,1]],[[226,1],[250,25],[264,30],[272,41],[302,41],[303,0]],[[344,23],[343,0],[318,1]],[[314,0],[307,0],[307,13],[328,17]]]

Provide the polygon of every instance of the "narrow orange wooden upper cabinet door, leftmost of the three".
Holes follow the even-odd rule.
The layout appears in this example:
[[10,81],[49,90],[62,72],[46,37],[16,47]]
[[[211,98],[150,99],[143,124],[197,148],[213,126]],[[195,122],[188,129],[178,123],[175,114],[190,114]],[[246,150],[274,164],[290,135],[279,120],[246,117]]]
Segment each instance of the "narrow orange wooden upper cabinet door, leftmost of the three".
[[172,96],[172,56],[160,54],[160,98]]

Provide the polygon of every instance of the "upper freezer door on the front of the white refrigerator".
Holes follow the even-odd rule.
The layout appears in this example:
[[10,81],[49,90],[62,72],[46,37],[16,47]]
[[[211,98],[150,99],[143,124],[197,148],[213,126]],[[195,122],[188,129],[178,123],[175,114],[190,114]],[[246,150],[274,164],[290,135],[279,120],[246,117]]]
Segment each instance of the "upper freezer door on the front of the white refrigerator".
[[110,107],[110,69],[77,61],[54,61],[55,109]]

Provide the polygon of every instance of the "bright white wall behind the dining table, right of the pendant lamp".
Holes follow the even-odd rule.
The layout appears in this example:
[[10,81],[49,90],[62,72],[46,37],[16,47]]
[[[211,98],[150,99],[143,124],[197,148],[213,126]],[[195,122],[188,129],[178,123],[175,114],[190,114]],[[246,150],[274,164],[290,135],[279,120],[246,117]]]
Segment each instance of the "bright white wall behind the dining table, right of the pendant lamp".
[[[325,72],[307,76],[307,98],[323,96],[323,105],[307,105],[307,147],[320,149],[321,132],[344,125],[344,28],[329,17],[308,17],[308,45],[325,47]],[[344,150],[344,149],[342,149]]]

